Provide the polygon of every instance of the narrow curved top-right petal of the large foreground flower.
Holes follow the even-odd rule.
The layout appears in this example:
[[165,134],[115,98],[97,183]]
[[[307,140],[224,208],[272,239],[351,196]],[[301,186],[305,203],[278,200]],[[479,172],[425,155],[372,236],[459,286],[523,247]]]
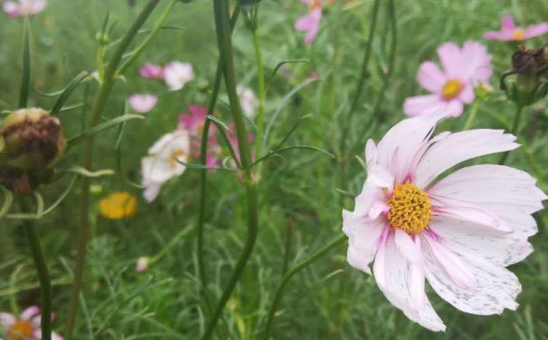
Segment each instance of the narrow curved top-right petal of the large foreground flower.
[[448,135],[425,152],[415,172],[415,184],[425,188],[445,170],[479,156],[510,151],[519,145],[502,130],[470,130]]

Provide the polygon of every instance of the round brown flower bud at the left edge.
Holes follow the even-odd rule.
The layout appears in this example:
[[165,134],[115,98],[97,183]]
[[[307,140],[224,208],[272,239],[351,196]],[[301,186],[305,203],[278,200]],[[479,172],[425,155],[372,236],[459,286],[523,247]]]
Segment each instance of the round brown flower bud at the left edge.
[[16,170],[43,171],[62,157],[61,122],[42,109],[21,109],[0,128],[0,164]]

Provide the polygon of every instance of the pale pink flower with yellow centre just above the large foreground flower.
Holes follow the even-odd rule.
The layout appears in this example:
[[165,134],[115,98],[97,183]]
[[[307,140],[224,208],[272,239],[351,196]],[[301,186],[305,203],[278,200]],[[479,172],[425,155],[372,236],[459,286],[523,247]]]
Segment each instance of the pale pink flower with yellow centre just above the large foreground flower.
[[464,104],[474,102],[474,88],[487,83],[493,73],[492,56],[486,46],[477,42],[467,41],[462,49],[457,44],[443,44],[437,55],[443,70],[432,62],[420,65],[418,83],[431,94],[406,99],[403,111],[408,116],[437,112],[453,117],[461,115]]

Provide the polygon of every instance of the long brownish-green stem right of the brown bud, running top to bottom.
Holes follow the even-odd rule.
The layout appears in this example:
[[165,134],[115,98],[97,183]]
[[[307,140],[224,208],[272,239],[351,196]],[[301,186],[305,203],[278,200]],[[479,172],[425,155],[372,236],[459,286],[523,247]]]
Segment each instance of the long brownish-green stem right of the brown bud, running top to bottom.
[[[150,0],[149,4],[146,5],[135,22],[131,25],[130,30],[124,35],[120,41],[118,49],[113,53],[111,61],[105,69],[104,79],[101,83],[101,88],[93,107],[91,109],[91,117],[88,123],[88,128],[93,128],[99,122],[101,118],[101,113],[107,104],[109,97],[111,96],[112,87],[117,74],[117,68],[120,64],[123,53],[130,46],[133,37],[139,32],[139,28],[142,24],[145,23],[149,15],[152,13],[156,5],[158,5],[159,0]],[[91,170],[93,163],[93,145],[94,145],[94,136],[91,135],[87,141],[83,168],[86,170]],[[74,266],[74,281],[72,284],[71,299],[68,306],[68,316],[67,323],[65,327],[65,336],[66,340],[72,338],[72,329],[74,327],[74,322],[76,320],[76,312],[78,309],[78,296],[82,288],[82,276],[83,276],[83,265],[85,262],[86,249],[88,244],[88,228],[89,228],[89,203],[90,203],[90,184],[91,180],[87,177],[82,179],[82,193],[80,201],[80,238],[78,240],[77,254],[76,254],[76,263]]]

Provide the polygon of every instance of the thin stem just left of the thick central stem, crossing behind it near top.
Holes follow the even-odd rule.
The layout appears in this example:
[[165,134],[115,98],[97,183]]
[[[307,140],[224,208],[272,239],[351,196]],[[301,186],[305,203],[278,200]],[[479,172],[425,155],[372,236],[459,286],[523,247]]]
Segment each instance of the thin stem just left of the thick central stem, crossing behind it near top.
[[[236,6],[232,18],[230,19],[231,28],[234,29],[238,15],[240,14],[240,6]],[[221,80],[223,77],[223,69],[221,60],[216,65],[215,81],[213,82],[213,93],[211,100],[207,105],[207,117],[212,117],[216,107],[216,101],[221,88]],[[210,119],[204,122],[204,130],[202,131],[202,142],[200,144],[200,164],[207,164],[207,145],[209,142],[209,128],[211,127]],[[206,204],[207,204],[207,168],[200,171],[200,200],[197,215],[197,267],[198,277],[202,287],[207,287],[206,265],[204,261],[204,224],[206,220]]]

